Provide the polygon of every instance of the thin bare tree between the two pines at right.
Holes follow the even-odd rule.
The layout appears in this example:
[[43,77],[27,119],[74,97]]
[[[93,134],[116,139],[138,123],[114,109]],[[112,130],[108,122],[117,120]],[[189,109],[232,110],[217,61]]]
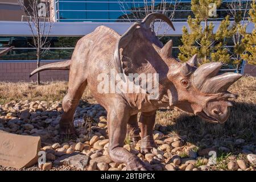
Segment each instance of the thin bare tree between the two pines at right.
[[250,2],[251,0],[232,0],[227,2],[230,18],[234,19],[234,34],[232,36],[234,49],[232,51],[232,55],[230,55],[230,59],[232,59],[232,62],[236,64],[237,72],[239,72],[239,68],[242,64],[241,55],[245,52],[245,47],[242,43],[243,36],[240,28],[246,28],[249,24],[248,13],[250,10]]

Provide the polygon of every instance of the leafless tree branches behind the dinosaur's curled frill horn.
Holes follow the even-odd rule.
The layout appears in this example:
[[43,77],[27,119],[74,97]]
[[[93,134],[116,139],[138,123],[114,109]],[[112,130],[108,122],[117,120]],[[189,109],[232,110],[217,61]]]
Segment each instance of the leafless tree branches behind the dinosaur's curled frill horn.
[[[143,1],[143,2],[142,2]],[[159,12],[166,14],[171,20],[174,18],[175,11],[180,3],[180,0],[142,0],[142,3],[138,3],[137,0],[129,1],[133,8],[130,8],[129,4],[125,0],[118,0],[120,9],[123,13],[123,19],[129,22],[139,22],[150,13]],[[137,7],[139,6],[139,7]],[[162,20],[155,26],[155,22],[152,23],[152,30],[156,35],[159,35],[159,30],[164,26]],[[169,26],[164,27],[162,36],[166,35]],[[162,37],[160,37],[161,39]]]

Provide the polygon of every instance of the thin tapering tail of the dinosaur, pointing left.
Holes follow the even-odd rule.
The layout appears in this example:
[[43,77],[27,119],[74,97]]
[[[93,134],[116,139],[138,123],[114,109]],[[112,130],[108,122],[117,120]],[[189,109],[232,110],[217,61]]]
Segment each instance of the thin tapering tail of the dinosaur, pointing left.
[[71,60],[43,65],[42,67],[39,67],[34,71],[32,71],[32,73],[30,73],[30,77],[35,75],[35,73],[42,72],[45,70],[50,70],[50,69],[69,70],[70,65],[71,65]]

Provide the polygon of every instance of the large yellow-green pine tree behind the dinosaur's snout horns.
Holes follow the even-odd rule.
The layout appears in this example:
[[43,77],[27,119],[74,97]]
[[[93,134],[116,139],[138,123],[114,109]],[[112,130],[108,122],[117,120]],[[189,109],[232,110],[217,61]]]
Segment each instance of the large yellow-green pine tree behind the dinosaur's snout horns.
[[226,39],[233,35],[233,27],[230,26],[229,16],[221,21],[216,34],[213,33],[214,25],[209,23],[210,3],[220,7],[221,0],[192,0],[191,10],[195,18],[188,16],[188,28],[183,27],[181,38],[182,46],[179,46],[179,59],[187,61],[197,54],[200,63],[209,61],[230,62],[230,55],[226,46]]

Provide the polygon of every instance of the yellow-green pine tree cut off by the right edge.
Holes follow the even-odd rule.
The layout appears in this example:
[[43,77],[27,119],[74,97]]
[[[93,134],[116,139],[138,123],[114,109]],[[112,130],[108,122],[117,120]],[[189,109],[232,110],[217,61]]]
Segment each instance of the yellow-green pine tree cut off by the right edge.
[[256,3],[255,0],[251,4],[250,21],[254,23],[254,30],[251,34],[246,34],[246,28],[241,27],[240,31],[242,35],[244,35],[242,39],[242,43],[245,46],[245,52],[241,55],[243,59],[247,61],[249,64],[256,65]]

